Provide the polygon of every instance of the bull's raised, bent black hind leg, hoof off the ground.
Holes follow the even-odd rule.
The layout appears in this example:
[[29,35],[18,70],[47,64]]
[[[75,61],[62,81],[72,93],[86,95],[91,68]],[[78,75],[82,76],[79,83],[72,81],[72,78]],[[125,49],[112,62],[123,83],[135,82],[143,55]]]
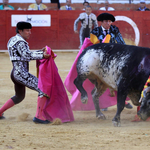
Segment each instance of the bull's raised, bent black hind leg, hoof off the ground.
[[83,104],[86,104],[88,101],[88,96],[87,96],[87,92],[85,91],[85,89],[83,88],[82,84],[85,81],[86,77],[81,77],[81,76],[77,76],[77,78],[74,80],[74,84],[77,87],[77,89],[80,91],[81,93],[81,102]]

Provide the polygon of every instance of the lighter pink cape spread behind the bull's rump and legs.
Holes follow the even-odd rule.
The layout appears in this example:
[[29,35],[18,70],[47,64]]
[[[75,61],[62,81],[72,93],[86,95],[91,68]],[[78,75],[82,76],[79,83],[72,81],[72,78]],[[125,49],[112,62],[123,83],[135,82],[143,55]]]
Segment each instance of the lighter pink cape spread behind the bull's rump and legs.
[[[80,56],[80,54],[86,47],[91,46],[91,45],[93,45],[93,44],[91,43],[90,39],[85,38],[84,43],[77,55],[72,67],[71,67],[71,70],[69,71],[69,73],[65,79],[65,82],[64,82],[66,89],[72,95],[72,99],[71,99],[70,103],[71,103],[71,107],[73,110],[95,110],[94,103],[92,100],[92,95],[91,95],[91,91],[94,88],[94,84],[92,84],[88,79],[86,79],[83,83],[83,87],[88,94],[88,103],[87,104],[83,104],[81,102],[81,94],[78,91],[78,89],[76,88],[76,86],[74,85],[74,80],[77,77],[76,64],[77,64],[78,57]],[[105,91],[105,93],[102,96],[100,96],[99,106],[101,109],[117,104],[117,97],[116,96],[110,97],[109,94],[110,94],[109,89],[107,89]],[[116,92],[115,92],[115,95],[117,95]]]

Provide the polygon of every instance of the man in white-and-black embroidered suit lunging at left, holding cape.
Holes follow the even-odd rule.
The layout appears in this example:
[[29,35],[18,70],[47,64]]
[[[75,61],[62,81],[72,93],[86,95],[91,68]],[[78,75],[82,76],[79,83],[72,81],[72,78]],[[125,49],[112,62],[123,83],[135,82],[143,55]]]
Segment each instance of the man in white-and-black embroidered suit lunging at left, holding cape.
[[[31,34],[32,25],[28,22],[18,22],[16,26],[16,35],[10,38],[7,47],[10,56],[10,60],[13,65],[11,71],[11,80],[14,83],[15,96],[11,97],[1,108],[0,108],[0,119],[5,118],[3,112],[7,109],[13,107],[14,105],[20,103],[25,98],[25,87],[38,92],[38,100],[42,97],[49,96],[42,92],[38,88],[38,78],[30,74],[29,71],[29,61],[37,60],[43,58],[49,58],[50,55],[46,54],[46,49],[37,51],[30,51],[27,43]],[[43,105],[43,103],[42,103]],[[48,120],[42,118],[41,109],[44,106],[39,106],[40,110],[38,117],[34,118],[34,122],[47,124],[50,123]]]

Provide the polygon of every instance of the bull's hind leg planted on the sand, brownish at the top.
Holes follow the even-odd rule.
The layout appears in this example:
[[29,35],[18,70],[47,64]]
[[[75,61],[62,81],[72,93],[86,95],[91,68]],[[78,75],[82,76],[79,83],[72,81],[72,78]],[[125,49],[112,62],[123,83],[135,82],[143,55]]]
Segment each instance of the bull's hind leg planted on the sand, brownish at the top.
[[105,120],[106,117],[105,115],[100,111],[99,107],[99,97],[105,92],[107,89],[106,86],[98,79],[96,80],[90,80],[93,84],[95,84],[95,88],[92,90],[92,98],[95,106],[95,111],[96,111],[96,117],[98,119],[103,119]]

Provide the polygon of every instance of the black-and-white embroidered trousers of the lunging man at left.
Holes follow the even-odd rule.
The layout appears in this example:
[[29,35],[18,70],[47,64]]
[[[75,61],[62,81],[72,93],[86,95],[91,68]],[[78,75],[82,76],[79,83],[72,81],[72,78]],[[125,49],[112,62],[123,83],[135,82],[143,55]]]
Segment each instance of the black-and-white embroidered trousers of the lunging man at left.
[[15,96],[11,99],[15,104],[20,103],[25,97],[25,87],[37,91],[38,96],[43,96],[44,93],[38,88],[38,78],[30,74],[29,62],[12,61],[13,69],[11,79],[14,82]]

